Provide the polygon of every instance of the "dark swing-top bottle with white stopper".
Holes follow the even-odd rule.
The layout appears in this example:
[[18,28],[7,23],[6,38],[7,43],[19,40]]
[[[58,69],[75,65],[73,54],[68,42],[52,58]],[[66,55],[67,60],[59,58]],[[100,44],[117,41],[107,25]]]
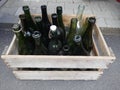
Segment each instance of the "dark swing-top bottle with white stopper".
[[49,42],[49,54],[50,55],[57,55],[62,48],[62,43],[57,38],[57,27],[55,25],[50,26],[49,38],[51,39]]

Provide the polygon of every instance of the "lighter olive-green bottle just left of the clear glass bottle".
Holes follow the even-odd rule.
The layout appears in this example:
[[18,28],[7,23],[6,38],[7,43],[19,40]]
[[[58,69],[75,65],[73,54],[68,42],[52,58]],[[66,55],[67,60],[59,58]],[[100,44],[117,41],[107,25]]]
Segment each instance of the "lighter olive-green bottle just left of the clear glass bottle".
[[77,18],[72,18],[71,19],[71,24],[70,24],[70,30],[67,35],[67,43],[71,46],[73,43],[73,38],[76,34],[76,28],[77,28]]

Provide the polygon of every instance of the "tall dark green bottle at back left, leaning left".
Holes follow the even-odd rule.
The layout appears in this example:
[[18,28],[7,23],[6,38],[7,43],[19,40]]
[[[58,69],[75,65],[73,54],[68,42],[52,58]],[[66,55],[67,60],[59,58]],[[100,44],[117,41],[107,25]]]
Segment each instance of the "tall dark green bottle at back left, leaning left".
[[24,15],[25,15],[26,22],[28,25],[28,29],[32,33],[33,31],[36,30],[36,25],[33,21],[32,16],[31,16],[29,6],[23,6],[23,11],[24,11]]

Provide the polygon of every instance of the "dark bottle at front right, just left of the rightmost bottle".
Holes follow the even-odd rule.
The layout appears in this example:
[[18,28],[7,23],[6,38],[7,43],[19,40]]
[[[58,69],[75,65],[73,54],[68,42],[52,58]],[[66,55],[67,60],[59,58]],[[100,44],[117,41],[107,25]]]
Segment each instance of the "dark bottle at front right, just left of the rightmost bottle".
[[75,35],[73,41],[74,41],[74,43],[71,46],[73,49],[72,55],[83,55],[83,56],[89,55],[89,53],[83,46],[82,37],[80,35]]

